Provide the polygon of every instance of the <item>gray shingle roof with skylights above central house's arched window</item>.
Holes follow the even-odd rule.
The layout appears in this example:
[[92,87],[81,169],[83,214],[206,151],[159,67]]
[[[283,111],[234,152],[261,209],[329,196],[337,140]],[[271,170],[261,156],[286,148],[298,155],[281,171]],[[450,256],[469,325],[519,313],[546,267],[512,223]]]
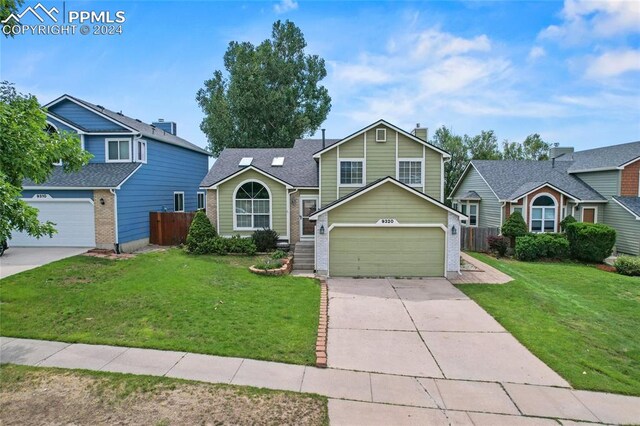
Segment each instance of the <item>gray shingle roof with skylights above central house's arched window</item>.
[[[325,146],[339,139],[327,139]],[[252,157],[251,165],[291,186],[317,187],[318,163],[313,154],[322,148],[322,139],[297,139],[293,148],[227,148],[209,170],[200,186],[211,186],[242,170],[243,157]],[[282,167],[271,165],[274,157],[284,157]]]

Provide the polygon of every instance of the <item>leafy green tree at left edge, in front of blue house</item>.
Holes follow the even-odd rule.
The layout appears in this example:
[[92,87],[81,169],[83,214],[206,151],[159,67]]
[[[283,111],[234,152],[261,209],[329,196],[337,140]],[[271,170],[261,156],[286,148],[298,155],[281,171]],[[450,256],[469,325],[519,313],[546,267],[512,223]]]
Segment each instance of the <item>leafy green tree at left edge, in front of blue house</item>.
[[13,230],[51,236],[55,224],[40,223],[38,209],[20,200],[22,182],[46,181],[60,160],[65,171],[77,171],[91,154],[82,150],[77,135],[47,131],[46,114],[36,97],[18,93],[6,81],[0,86],[0,128],[0,240]]

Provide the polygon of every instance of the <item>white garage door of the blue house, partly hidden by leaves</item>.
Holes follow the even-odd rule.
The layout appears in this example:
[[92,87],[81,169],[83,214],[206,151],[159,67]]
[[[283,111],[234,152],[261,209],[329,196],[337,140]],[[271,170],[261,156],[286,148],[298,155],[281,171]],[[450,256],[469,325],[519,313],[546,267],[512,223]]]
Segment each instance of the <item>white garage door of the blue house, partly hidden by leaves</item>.
[[40,239],[24,232],[13,232],[9,241],[14,247],[95,247],[96,225],[93,201],[89,198],[25,200],[40,210],[41,222],[51,221],[58,230],[53,237]]

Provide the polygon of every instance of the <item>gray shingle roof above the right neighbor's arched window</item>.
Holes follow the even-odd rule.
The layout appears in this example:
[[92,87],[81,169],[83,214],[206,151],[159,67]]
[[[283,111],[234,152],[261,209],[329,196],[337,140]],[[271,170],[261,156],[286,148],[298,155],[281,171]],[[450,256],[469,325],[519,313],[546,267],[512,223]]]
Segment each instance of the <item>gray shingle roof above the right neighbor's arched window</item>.
[[551,184],[580,200],[604,200],[593,188],[567,173],[570,161],[472,160],[471,163],[501,200],[513,200]]

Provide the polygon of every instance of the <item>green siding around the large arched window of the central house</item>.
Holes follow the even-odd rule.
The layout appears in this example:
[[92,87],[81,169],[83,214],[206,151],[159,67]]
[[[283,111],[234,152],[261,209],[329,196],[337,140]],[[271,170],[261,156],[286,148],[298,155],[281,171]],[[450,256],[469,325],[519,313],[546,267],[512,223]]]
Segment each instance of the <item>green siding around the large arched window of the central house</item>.
[[273,229],[275,229],[281,237],[288,236],[286,187],[254,170],[247,170],[219,186],[218,219],[220,229],[218,229],[218,233],[221,235],[240,234],[242,236],[248,236],[253,233],[253,231],[234,231],[233,229],[233,193],[238,185],[246,180],[256,180],[269,188],[271,192],[271,221]]

